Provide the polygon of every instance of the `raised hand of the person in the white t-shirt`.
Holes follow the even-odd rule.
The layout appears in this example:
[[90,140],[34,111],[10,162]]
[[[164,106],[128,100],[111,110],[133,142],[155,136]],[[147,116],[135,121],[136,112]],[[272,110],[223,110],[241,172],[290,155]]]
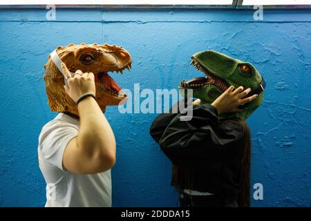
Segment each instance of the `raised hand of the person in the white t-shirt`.
[[77,102],[77,99],[82,95],[93,94],[95,96],[95,78],[93,73],[82,73],[82,70],[77,70],[73,74],[64,63],[62,63],[62,69],[68,82],[68,87],[64,85],[64,88],[71,99]]

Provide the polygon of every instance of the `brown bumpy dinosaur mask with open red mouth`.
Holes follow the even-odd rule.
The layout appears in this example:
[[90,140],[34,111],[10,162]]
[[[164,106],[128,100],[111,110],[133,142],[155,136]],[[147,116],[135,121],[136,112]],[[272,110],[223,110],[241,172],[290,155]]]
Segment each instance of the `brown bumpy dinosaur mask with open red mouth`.
[[[69,44],[57,47],[57,54],[70,72],[82,70],[84,73],[94,73],[96,99],[103,113],[107,105],[118,105],[126,100],[126,94],[122,93],[120,86],[108,75],[113,71],[123,74],[125,68],[131,69],[131,55],[122,47],[107,44]],[[77,115],[77,105],[64,90],[64,76],[50,55],[44,68],[44,81],[51,111],[68,111]]]

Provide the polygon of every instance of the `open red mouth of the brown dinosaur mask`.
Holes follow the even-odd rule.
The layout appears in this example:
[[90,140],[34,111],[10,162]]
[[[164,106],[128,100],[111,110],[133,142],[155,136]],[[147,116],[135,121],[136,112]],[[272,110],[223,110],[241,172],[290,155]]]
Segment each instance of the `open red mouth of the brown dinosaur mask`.
[[108,74],[113,72],[123,74],[124,69],[131,70],[131,64],[127,64],[126,66],[118,70],[111,70],[109,72],[100,72],[95,74],[96,86],[100,87],[106,93],[109,93],[112,97],[115,97],[117,99],[126,98],[127,95],[122,92],[122,89],[117,84],[117,82],[115,82],[115,80]]

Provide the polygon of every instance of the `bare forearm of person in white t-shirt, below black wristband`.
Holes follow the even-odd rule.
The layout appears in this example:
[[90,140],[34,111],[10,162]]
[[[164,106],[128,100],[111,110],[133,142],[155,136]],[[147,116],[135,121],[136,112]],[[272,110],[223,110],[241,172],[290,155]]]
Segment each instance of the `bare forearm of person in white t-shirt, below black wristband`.
[[93,97],[78,104],[80,117],[77,145],[90,157],[108,157],[115,160],[115,136],[100,106]]

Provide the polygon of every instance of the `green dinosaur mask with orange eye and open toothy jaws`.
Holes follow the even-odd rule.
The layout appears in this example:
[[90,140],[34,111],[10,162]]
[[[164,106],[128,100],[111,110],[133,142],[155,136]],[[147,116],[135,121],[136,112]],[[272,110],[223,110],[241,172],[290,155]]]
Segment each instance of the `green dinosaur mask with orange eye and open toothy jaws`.
[[229,86],[251,88],[248,96],[258,97],[241,106],[242,111],[223,113],[220,118],[238,117],[247,119],[263,102],[265,81],[256,68],[245,61],[234,59],[214,50],[197,52],[191,57],[191,65],[202,71],[206,77],[196,77],[180,83],[180,89],[192,89],[193,97],[201,100],[201,104],[211,104]]

